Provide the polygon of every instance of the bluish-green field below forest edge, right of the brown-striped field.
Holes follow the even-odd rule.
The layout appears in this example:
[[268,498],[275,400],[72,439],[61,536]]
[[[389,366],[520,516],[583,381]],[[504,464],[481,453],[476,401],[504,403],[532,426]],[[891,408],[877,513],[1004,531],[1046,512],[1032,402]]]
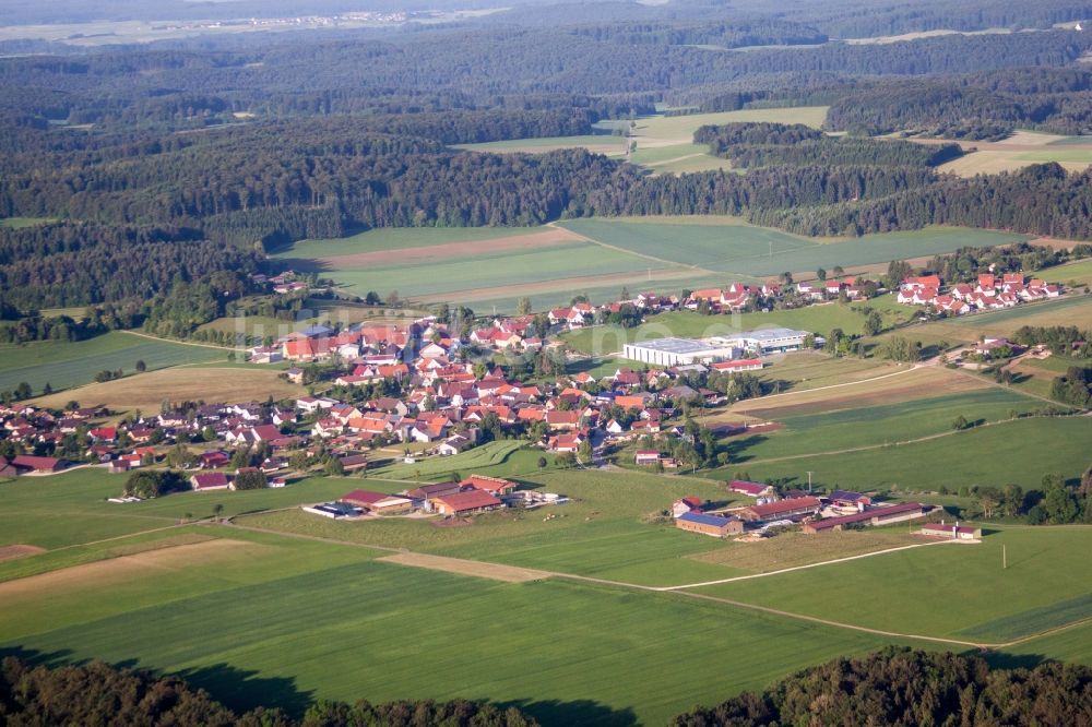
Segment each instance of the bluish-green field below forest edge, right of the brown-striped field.
[[737,218],[692,217],[654,221],[574,219],[562,227],[604,245],[705,271],[772,277],[783,272],[812,273],[819,267],[886,263],[951,252],[961,247],[1005,245],[1024,235],[959,227],[928,227],[905,233],[866,235],[840,241],[788,235]]

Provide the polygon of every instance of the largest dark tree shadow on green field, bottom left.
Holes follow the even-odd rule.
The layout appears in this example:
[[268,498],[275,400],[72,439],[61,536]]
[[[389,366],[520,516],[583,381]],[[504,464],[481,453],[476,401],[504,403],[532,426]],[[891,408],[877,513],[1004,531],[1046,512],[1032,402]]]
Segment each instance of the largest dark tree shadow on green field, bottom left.
[[205,690],[214,700],[237,713],[263,706],[266,710],[280,707],[297,719],[304,716],[313,701],[311,692],[296,689],[293,677],[258,675],[258,671],[247,671],[230,664],[215,664],[178,672],[190,686]]

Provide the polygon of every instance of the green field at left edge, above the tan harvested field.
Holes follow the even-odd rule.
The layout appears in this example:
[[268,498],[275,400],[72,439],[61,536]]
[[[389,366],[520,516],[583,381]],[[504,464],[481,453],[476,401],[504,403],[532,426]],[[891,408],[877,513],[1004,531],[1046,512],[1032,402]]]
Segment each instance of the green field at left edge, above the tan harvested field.
[[135,371],[143,360],[149,370],[179,364],[223,360],[227,350],[188,346],[168,341],[151,341],[111,332],[74,343],[45,341],[0,345],[0,390],[27,382],[39,393],[49,383],[55,391],[90,383],[104,369]]

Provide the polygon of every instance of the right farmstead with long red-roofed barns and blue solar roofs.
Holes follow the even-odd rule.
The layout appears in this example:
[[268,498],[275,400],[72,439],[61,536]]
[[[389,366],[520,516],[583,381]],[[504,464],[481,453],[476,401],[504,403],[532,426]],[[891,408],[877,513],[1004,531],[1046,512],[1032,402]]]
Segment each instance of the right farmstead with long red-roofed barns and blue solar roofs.
[[[753,504],[729,505],[711,509],[699,498],[687,497],[672,504],[675,526],[690,533],[713,537],[744,534],[762,535],[773,527],[799,525],[811,535],[842,531],[847,527],[891,525],[919,520],[933,513],[934,505],[921,502],[876,503],[867,494],[847,490],[833,490],[827,494],[790,491],[779,496],[774,488],[760,482],[733,480],[728,491],[755,499]],[[925,534],[933,534],[927,526]],[[950,529],[950,528],[949,528]],[[947,533],[947,531],[945,531]],[[941,533],[943,535],[943,533]],[[953,537],[973,539],[961,532]]]

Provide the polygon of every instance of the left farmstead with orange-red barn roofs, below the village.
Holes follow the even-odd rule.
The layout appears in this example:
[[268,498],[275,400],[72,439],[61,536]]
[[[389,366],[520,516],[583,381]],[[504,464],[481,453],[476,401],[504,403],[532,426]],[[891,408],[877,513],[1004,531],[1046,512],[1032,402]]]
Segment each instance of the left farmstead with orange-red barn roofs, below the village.
[[466,517],[515,504],[533,509],[568,502],[563,496],[518,488],[511,480],[472,475],[458,482],[419,485],[395,494],[353,490],[335,502],[308,505],[302,510],[334,520],[411,514]]

